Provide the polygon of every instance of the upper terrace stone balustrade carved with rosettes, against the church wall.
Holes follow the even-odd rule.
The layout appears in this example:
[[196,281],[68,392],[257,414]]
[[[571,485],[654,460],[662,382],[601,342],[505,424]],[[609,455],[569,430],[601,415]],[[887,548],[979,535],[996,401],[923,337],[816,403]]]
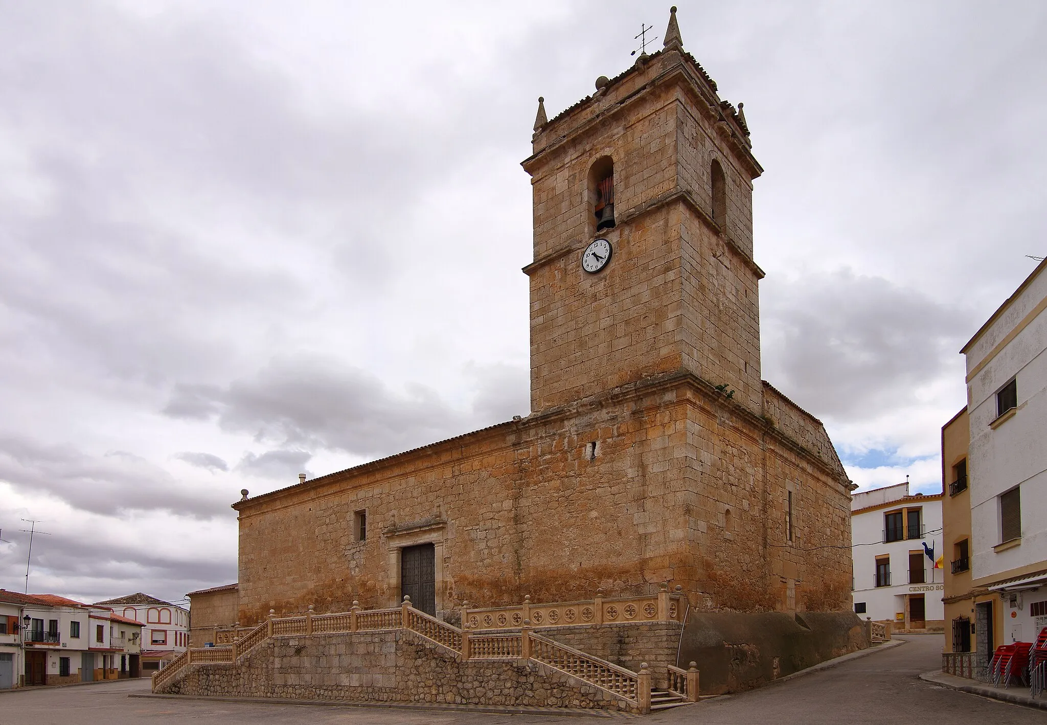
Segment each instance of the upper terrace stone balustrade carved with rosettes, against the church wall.
[[683,621],[687,600],[677,592],[662,591],[649,596],[605,599],[598,594],[593,599],[537,605],[531,596],[513,607],[490,609],[466,608],[462,624],[469,630],[519,629],[530,619],[535,627],[572,627],[577,624],[609,624],[638,621]]

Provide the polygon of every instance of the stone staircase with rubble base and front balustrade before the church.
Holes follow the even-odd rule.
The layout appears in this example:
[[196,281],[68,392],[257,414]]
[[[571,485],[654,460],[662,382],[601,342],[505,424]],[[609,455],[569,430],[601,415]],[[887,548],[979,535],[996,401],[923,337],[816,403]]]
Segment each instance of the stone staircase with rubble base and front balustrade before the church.
[[[632,672],[518,631],[472,634],[410,606],[270,617],[231,646],[193,649],[153,677],[154,693],[310,700],[583,707],[637,715],[697,700],[697,669],[669,666],[654,688]],[[662,678],[659,678],[660,680]]]

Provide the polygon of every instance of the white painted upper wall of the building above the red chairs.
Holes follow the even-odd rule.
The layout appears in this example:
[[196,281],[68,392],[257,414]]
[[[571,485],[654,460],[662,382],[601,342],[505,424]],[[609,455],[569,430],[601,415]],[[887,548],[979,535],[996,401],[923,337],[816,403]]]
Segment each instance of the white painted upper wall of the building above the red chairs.
[[[1047,269],[1042,269],[967,350],[968,375],[1045,299]],[[1018,381],[1018,411],[994,430],[996,393],[1012,377]],[[972,575],[982,579],[1047,561],[1047,310],[967,383],[967,407]],[[997,552],[999,497],[1015,486],[1021,487],[1021,545]]]

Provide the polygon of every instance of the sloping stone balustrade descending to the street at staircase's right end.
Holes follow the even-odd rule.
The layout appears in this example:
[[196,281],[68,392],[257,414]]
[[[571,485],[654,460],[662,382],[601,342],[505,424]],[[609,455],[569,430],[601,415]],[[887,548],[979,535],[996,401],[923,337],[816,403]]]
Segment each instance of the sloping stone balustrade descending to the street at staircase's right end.
[[651,680],[646,663],[637,674],[599,657],[586,655],[580,650],[536,635],[529,632],[528,628],[524,629],[521,635],[522,659],[541,662],[629,702],[640,704],[641,707],[646,697],[647,709],[650,709]]

